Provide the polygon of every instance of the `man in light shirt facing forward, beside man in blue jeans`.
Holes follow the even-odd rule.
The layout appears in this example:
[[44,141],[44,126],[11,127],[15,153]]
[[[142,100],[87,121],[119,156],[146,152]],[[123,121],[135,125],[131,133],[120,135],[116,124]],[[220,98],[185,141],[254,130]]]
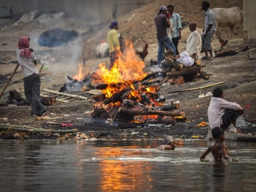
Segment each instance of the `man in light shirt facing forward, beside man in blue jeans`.
[[172,31],[172,41],[173,45],[176,48],[176,54],[179,54],[178,51],[178,45],[179,45],[179,40],[181,40],[181,18],[179,14],[174,13],[174,7],[173,5],[168,5],[167,6],[168,12],[170,13],[170,20],[173,23],[173,31]]

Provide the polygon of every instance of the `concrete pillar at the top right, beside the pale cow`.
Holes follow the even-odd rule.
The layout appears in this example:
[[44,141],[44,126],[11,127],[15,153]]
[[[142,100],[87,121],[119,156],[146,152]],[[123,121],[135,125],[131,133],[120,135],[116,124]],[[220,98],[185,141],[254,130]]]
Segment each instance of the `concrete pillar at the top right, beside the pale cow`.
[[255,0],[243,0],[243,42],[247,45],[256,45],[255,8]]

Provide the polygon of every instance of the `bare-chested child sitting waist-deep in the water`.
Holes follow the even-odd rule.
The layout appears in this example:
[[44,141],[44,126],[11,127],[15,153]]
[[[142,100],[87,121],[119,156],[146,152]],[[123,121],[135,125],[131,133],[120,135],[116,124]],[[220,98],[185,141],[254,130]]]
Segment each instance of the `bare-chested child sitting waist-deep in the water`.
[[212,138],[215,140],[214,144],[211,144],[207,150],[200,156],[200,160],[204,160],[205,157],[211,152],[214,156],[215,162],[222,162],[223,159],[228,159],[233,162],[237,160],[230,158],[228,147],[224,143],[224,131],[221,127],[215,127],[211,131]]

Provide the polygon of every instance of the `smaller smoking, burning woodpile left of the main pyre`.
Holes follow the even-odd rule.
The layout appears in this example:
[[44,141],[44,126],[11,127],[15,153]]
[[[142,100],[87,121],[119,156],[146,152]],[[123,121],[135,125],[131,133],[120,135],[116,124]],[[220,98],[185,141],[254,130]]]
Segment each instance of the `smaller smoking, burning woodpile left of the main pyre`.
[[68,82],[59,89],[59,92],[70,92],[70,91],[89,91],[95,89],[95,86],[92,85],[92,74],[88,73],[84,76],[83,80],[79,81],[72,77],[68,77]]

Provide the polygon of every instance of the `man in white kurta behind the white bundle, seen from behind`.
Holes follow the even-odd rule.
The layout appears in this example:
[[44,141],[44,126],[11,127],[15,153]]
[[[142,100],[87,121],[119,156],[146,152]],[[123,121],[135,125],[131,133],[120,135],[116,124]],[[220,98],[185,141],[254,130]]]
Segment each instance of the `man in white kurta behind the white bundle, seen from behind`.
[[192,58],[200,58],[200,51],[202,47],[202,38],[201,35],[197,31],[197,23],[191,22],[189,25],[191,30],[191,34],[187,39],[186,52]]

